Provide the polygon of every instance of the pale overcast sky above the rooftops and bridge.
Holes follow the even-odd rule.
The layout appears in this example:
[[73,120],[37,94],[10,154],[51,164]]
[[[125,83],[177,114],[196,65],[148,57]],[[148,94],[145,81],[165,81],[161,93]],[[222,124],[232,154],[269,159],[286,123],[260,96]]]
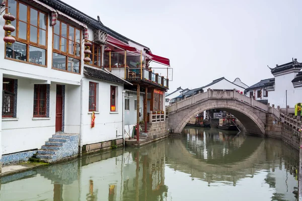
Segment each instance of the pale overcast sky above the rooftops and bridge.
[[301,0],[63,2],[169,58],[168,92],[223,76],[250,86],[273,77],[267,65],[302,62]]

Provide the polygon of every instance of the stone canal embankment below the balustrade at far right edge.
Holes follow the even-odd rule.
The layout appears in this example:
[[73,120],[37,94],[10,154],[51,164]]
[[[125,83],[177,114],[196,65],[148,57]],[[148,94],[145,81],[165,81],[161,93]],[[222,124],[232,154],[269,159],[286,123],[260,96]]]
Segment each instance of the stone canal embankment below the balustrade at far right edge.
[[292,129],[289,125],[282,124],[282,141],[297,150],[300,146],[299,135],[299,132]]

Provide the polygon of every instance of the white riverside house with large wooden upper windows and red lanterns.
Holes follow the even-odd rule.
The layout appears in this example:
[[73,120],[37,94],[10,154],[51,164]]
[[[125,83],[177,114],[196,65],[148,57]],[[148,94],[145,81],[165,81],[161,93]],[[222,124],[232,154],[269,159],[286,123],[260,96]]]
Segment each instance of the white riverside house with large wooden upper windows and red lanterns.
[[[170,65],[169,59],[153,55],[100,19],[58,0],[7,0],[1,6],[0,158],[4,166],[27,161],[33,154],[53,162],[122,145],[125,118],[131,118],[131,125],[137,122],[124,114],[130,108],[142,108],[144,120],[148,113],[149,122],[165,122],[161,95],[168,89],[168,79],[146,66],[156,60]],[[112,53],[107,51],[110,48]],[[136,75],[134,68],[115,66],[126,59],[145,65]],[[127,76],[114,68],[126,69],[122,75]],[[138,86],[141,93],[127,102]]]

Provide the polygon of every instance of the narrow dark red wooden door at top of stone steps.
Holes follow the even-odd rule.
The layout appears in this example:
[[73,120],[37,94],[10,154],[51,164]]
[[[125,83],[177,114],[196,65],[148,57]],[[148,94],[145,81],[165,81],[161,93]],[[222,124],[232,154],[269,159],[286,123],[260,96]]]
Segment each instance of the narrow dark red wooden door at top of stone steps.
[[62,111],[63,111],[62,85],[57,84],[56,106],[55,106],[55,132],[62,131],[62,120],[63,120]]

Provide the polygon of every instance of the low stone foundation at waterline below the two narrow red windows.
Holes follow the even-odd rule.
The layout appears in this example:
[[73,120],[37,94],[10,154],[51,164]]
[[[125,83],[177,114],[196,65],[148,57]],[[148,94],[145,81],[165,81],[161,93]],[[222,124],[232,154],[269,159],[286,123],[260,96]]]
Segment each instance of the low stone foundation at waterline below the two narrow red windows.
[[84,145],[82,152],[83,153],[89,153],[89,152],[95,152],[100,150],[106,150],[110,148],[117,148],[123,146],[123,139],[117,139],[117,140],[111,140],[106,142],[99,142],[95,144],[88,144]]

